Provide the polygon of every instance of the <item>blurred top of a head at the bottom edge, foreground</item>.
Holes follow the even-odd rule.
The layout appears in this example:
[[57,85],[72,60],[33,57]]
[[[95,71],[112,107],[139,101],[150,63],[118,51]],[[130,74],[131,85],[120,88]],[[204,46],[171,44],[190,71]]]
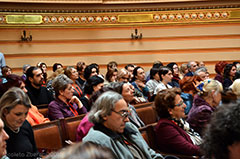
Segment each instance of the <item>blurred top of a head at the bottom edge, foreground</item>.
[[48,155],[45,159],[113,159],[110,149],[91,142],[77,143],[56,153]]

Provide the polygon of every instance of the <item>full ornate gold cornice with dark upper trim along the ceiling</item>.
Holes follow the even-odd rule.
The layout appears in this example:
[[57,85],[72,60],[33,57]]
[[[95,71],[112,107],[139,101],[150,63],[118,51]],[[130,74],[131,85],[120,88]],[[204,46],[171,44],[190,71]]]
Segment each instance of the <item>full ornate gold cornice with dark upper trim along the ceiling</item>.
[[[63,1],[66,0],[56,0]],[[111,0],[99,1],[103,3]],[[129,1],[133,2],[121,0],[123,4],[120,5],[53,5],[1,3],[0,0],[0,27],[118,27],[240,22],[240,1],[168,0],[168,3],[163,3],[156,0],[156,4],[142,4],[142,1],[135,0],[139,3],[124,4]]]

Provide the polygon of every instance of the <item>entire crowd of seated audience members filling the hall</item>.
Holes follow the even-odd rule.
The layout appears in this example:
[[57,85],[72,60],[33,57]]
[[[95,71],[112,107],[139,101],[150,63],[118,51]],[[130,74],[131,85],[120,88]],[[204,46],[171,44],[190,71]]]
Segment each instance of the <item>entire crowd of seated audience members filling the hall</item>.
[[[44,62],[26,64],[22,76],[13,74],[9,66],[1,68],[0,158],[40,158],[31,126],[85,114],[76,130],[77,142],[82,143],[47,158],[86,154],[106,159],[162,159],[139,132],[146,125],[134,105],[146,102],[154,102],[158,114],[155,135],[159,152],[221,158],[217,151],[222,150],[227,154],[224,158],[237,156],[240,130],[233,126],[238,121],[230,119],[239,115],[233,112],[240,107],[239,62],[216,63],[215,78],[209,77],[202,61],[181,66],[156,61],[146,73],[141,66],[118,68],[112,61],[105,76],[96,63],[78,62],[75,67],[55,63],[51,75],[47,68]],[[229,104],[232,102],[235,104]],[[42,106],[48,107],[47,116],[39,112]],[[234,127],[230,129],[233,136],[227,129],[230,126]],[[216,146],[215,132],[227,140],[221,148]],[[84,148],[95,153],[84,152]]]

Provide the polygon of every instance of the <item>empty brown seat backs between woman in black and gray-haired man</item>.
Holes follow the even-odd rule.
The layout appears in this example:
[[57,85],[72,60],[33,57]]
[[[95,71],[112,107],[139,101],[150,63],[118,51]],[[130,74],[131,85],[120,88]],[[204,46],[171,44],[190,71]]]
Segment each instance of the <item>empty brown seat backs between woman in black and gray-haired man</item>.
[[85,114],[34,125],[33,132],[36,146],[41,153],[57,151],[76,141],[76,131]]

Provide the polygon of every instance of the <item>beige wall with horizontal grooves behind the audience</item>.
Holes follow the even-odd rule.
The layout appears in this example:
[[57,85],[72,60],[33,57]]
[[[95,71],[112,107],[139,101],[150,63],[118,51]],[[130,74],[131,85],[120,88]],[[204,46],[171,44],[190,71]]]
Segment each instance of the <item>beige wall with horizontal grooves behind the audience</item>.
[[[139,27],[138,27],[139,28]],[[23,30],[32,42],[20,42]],[[198,24],[141,27],[141,40],[131,40],[134,27],[108,28],[0,28],[0,51],[13,72],[21,74],[24,64],[42,61],[64,66],[78,61],[106,64],[116,61],[123,67],[133,63],[150,69],[152,63],[204,61],[214,73],[217,61],[240,61],[240,24]],[[49,73],[50,73],[49,72]]]

